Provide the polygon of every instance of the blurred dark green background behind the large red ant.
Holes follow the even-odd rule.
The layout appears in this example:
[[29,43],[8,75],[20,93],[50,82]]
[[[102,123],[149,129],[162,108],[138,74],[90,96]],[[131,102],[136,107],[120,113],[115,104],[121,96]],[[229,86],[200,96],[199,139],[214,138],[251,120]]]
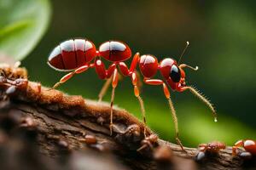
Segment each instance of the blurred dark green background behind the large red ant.
[[[69,38],[86,37],[97,47],[109,39],[117,39],[127,42],[133,54],[154,54],[159,60],[178,59],[189,41],[183,63],[199,65],[200,70],[186,70],[187,82],[211,99],[218,111],[218,122],[213,122],[211,111],[193,94],[172,93],[183,144],[196,146],[212,140],[234,144],[237,139],[256,139],[255,1],[55,0],[50,3],[49,29],[22,61],[32,81],[50,87],[65,74],[49,68],[46,60],[59,42]],[[26,42],[18,44],[26,46]],[[131,59],[127,61],[130,63]],[[73,77],[60,89],[67,94],[97,99],[103,83],[90,70]],[[109,101],[110,93],[111,88],[103,100]],[[142,95],[149,127],[160,138],[175,142],[172,116],[162,88],[143,85]],[[141,118],[129,78],[119,82],[114,103]]]

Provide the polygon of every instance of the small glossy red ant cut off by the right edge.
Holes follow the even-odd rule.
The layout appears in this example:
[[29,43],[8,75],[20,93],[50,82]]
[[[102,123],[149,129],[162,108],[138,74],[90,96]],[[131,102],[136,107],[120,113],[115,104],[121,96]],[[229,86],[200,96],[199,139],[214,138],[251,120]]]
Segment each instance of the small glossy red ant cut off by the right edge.
[[[243,151],[238,149],[243,148]],[[245,159],[250,159],[252,156],[256,156],[256,141],[251,139],[238,140],[232,147],[233,156],[240,156]]]

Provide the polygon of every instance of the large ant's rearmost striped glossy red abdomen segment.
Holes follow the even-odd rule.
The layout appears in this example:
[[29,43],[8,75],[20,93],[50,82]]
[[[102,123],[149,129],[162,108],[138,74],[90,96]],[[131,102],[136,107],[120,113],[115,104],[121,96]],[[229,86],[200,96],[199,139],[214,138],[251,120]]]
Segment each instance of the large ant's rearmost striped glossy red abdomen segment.
[[61,42],[49,54],[48,64],[56,70],[70,71],[96,57],[96,47],[86,39],[72,39]]

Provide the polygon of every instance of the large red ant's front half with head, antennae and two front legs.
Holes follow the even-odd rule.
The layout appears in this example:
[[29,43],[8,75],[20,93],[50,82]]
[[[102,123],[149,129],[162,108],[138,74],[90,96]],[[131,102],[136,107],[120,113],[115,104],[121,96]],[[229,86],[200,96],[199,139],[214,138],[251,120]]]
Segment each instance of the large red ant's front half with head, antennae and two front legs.
[[[182,59],[183,54],[185,53],[188,47],[189,42],[187,42],[186,47],[183,49],[183,53],[181,54],[179,61]],[[141,57],[139,55],[136,55],[136,58],[134,58],[133,60],[135,60],[134,65],[136,65],[137,63],[139,64],[140,71],[144,77],[143,82],[149,85],[161,85],[163,87],[164,94],[166,96],[166,99],[168,100],[168,104],[172,111],[172,119],[174,122],[177,144],[181,146],[182,150],[183,144],[181,143],[178,137],[177,115],[172,104],[170,91],[166,86],[166,82],[172,88],[173,91],[183,92],[185,90],[189,90],[192,94],[195,94],[196,97],[201,99],[212,110],[214,122],[217,122],[217,114],[210,101],[206,99],[204,96],[202,96],[195,88],[186,85],[185,72],[183,71],[183,68],[188,67],[189,69],[197,71],[198,66],[193,68],[185,64],[179,65],[179,61],[177,62],[175,59],[172,58],[163,59],[159,64],[157,58],[152,54],[144,54]],[[152,77],[154,77],[157,71],[160,71],[163,80],[152,79]]]

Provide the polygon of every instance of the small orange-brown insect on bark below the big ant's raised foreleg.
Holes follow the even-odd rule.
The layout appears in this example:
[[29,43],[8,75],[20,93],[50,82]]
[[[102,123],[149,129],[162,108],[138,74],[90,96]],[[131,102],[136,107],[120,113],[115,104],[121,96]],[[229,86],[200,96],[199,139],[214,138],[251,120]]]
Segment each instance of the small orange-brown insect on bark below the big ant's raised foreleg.
[[206,157],[206,153],[209,154],[218,154],[219,150],[224,150],[226,145],[222,142],[213,141],[208,144],[199,144],[199,152],[195,156],[196,161],[201,161],[203,158]]

